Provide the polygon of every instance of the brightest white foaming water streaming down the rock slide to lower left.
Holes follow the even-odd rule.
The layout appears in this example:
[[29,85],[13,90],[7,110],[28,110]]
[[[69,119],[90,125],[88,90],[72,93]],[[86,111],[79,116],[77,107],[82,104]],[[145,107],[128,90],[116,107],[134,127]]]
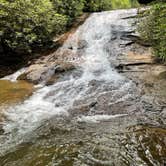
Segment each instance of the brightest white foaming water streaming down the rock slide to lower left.
[[[133,13],[136,14],[136,10],[132,10],[131,14]],[[105,86],[110,87],[110,89],[117,88],[122,93],[125,91],[125,95],[129,95],[130,82],[111,67],[108,60],[109,52],[104,47],[112,35],[111,25],[115,21],[117,25],[118,23],[123,25],[120,20],[122,14],[124,11],[93,14],[74,35],[69,37],[64,46],[60,48],[61,52],[72,46],[72,51],[77,53],[78,41],[82,40],[87,43],[82,53],[82,63],[78,66],[78,69],[82,71],[81,76],[74,78],[71,74],[67,80],[43,87],[22,105],[10,108],[6,113],[8,118],[4,125],[6,132],[14,130],[18,133],[24,133],[36,127],[42,119],[56,114],[67,115],[68,110],[76,100],[83,100],[87,95],[97,97],[105,91]],[[125,21],[124,23],[126,24]],[[101,84],[95,91],[91,92],[89,83],[93,80],[99,81]],[[52,94],[49,95],[49,93]]]

